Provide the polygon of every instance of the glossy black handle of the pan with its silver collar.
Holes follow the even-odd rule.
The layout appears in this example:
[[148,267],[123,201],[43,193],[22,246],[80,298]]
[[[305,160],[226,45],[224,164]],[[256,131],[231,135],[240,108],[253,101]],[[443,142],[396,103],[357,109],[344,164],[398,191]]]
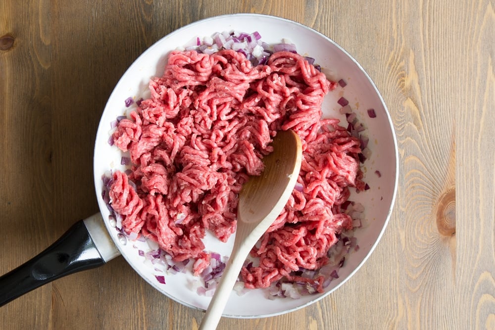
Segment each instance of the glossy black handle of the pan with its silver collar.
[[63,276],[101,266],[119,254],[100,214],[80,220],[45,251],[0,277],[0,306]]

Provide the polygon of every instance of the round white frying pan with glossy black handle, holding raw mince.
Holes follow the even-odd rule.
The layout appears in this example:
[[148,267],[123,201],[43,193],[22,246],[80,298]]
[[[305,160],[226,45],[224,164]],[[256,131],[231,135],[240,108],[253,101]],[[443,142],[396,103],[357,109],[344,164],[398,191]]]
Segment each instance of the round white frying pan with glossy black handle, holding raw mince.
[[[148,48],[125,72],[110,95],[102,113],[95,142],[94,180],[100,213],[76,222],[60,239],[45,251],[27,261],[17,269],[0,278],[0,305],[33,290],[40,285],[78,271],[98,267],[112,258],[122,255],[134,270],[149,284],[166,296],[181,304],[197,309],[206,309],[210,297],[197,292],[200,280],[190,271],[169,274],[143,257],[147,251],[156,249],[156,244],[147,240],[135,240],[116,229],[114,219],[102,197],[104,185],[102,175],[108,171],[122,170],[123,153],[108,143],[112,123],[118,116],[132,110],[125,100],[146,97],[151,77],[161,76],[168,52],[184,45],[193,37],[211,36],[222,31],[258,31],[263,41],[269,44],[289,39],[299,53],[315,58],[322,71],[330,79],[343,78],[345,89],[329,93],[323,103],[324,117],[338,117],[337,100],[345,96],[355,113],[366,127],[372,154],[363,164],[364,180],[370,190],[356,194],[351,199],[365,208],[365,219],[354,236],[360,246],[346,258],[334,279],[324,292],[301,296],[299,299],[268,299],[265,289],[248,290],[243,295],[232,293],[224,316],[258,318],[279,315],[314,303],[345,283],[366,261],[374,250],[387,226],[394,205],[398,178],[398,153],[396,136],[385,102],[364,69],[342,47],[335,42],[299,23],[260,14],[236,14],[207,18],[165,36]],[[373,108],[376,116],[367,115]],[[380,176],[374,173],[381,173]],[[222,243],[212,235],[204,239],[206,249],[228,256],[234,236]],[[240,307],[242,306],[242,307]]]

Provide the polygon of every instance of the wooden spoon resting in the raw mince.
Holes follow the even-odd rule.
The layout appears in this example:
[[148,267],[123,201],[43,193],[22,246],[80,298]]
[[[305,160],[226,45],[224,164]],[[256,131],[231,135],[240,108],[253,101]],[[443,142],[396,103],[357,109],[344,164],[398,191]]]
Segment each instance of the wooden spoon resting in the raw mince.
[[272,145],[273,152],[263,158],[261,176],[250,177],[239,194],[234,248],[200,330],[216,329],[249,251],[280,215],[296,186],[302,160],[299,137],[280,131]]

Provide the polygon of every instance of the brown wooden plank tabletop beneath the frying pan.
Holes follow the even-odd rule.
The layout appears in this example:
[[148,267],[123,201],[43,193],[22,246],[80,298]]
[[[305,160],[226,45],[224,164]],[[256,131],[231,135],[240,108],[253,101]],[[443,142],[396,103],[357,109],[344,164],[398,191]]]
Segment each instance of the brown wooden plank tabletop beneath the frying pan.
[[[185,24],[237,12],[308,25],[362,64],[390,110],[400,176],[390,224],[347,283],[218,329],[495,329],[490,0],[0,1],[0,273],[98,211],[99,117],[134,59]],[[9,330],[197,329],[201,318],[123,258],[0,308]]]

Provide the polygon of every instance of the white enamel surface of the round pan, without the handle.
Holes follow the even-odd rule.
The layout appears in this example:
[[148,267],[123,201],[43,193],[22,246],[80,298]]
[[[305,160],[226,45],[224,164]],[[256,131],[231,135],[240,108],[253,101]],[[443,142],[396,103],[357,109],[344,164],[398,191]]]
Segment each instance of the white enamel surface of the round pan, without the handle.
[[[361,202],[366,208],[366,221],[363,228],[356,231],[360,249],[352,252],[346,259],[346,264],[339,272],[339,279],[332,281],[325,292],[316,295],[303,296],[300,299],[275,299],[266,297],[263,289],[251,290],[239,296],[231,294],[224,316],[236,318],[257,318],[287,313],[311,303],[314,303],[345,283],[366,261],[384,233],[390,219],[396,196],[398,177],[398,153],[396,136],[392,121],[385,103],[377,88],[364,69],[341,47],[328,37],[293,21],[274,16],[259,14],[237,14],[212,17],[187,25],[165,36],[148,48],[125,72],[108,99],[99,124],[94,155],[95,187],[98,196],[99,208],[110,236],[115,245],[129,264],[148,283],[166,296],[192,308],[206,309],[211,298],[199,296],[196,293],[198,278],[192,274],[167,275],[155,265],[139,256],[138,250],[155,248],[155,244],[141,241],[130,241],[122,244],[117,231],[108,221],[109,211],[101,198],[101,175],[108,170],[123,169],[120,165],[122,153],[116,147],[111,147],[109,138],[110,123],[117,116],[129,111],[124,100],[129,96],[138,99],[146,94],[148,81],[153,76],[163,73],[167,53],[176,47],[187,43],[193,37],[209,36],[222,31],[258,31],[262,40],[270,43],[280,43],[282,39],[289,39],[297,46],[299,53],[316,59],[323,72],[330,78],[344,78],[347,87],[340,87],[328,94],[324,101],[324,117],[338,117],[340,106],[337,99],[344,95],[354,108],[361,122],[367,127],[370,137],[369,147],[371,157],[365,162],[365,181],[370,190],[353,194],[353,200]],[[132,106],[131,106],[132,108]],[[369,118],[366,110],[374,108],[376,118]],[[381,172],[379,178],[374,172]],[[229,255],[232,249],[233,237],[227,243],[221,243],[212,236],[207,236],[205,246],[208,251]],[[118,276],[118,274],[115,274]],[[164,275],[166,284],[159,283],[155,276]],[[164,302],[165,304],[165,302]]]

